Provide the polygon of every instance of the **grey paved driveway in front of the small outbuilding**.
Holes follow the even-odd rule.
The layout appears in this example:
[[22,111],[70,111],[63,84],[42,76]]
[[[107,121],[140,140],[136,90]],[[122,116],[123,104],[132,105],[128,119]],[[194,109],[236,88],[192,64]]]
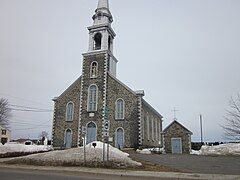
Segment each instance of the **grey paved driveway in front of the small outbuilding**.
[[188,173],[240,175],[240,156],[158,155],[130,153],[137,161],[150,162]]

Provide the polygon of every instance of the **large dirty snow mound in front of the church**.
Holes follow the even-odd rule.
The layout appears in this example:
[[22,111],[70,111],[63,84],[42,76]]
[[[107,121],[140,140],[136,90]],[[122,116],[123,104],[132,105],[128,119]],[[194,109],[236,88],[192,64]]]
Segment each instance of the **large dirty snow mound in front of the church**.
[[[103,165],[103,143],[96,142],[97,147],[93,148],[92,143],[86,146],[86,165],[99,167]],[[106,160],[106,154],[105,154]],[[74,148],[61,151],[50,151],[41,154],[34,154],[25,157],[14,158],[7,163],[50,165],[50,166],[81,166],[84,165],[84,148]],[[142,164],[133,161],[127,153],[109,146],[110,167],[139,167]]]

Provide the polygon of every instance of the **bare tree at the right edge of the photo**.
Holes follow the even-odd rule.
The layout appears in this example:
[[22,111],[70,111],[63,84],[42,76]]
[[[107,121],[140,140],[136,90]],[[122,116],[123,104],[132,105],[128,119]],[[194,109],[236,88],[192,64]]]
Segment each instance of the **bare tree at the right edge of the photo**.
[[240,94],[229,101],[229,110],[227,110],[225,124],[222,126],[226,138],[231,140],[240,140]]

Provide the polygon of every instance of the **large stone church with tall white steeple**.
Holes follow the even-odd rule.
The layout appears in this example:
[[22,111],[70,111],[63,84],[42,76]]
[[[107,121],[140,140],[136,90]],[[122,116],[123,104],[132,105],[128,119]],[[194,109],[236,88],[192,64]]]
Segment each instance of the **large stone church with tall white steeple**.
[[82,75],[53,99],[53,146],[72,148],[106,138],[119,149],[159,146],[162,116],[143,99],[143,90],[134,91],[116,77],[108,0],[99,0],[92,19]]

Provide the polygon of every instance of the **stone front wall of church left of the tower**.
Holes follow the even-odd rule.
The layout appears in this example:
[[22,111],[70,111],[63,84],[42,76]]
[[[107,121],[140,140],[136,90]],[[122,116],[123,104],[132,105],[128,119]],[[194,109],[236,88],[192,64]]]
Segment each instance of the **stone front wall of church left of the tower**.
[[[67,129],[72,130],[72,146],[77,147],[79,123],[79,95],[81,78],[77,79],[60,97],[55,100],[53,118],[53,146],[65,147],[64,138]],[[68,102],[74,104],[73,122],[66,122],[66,106]]]

